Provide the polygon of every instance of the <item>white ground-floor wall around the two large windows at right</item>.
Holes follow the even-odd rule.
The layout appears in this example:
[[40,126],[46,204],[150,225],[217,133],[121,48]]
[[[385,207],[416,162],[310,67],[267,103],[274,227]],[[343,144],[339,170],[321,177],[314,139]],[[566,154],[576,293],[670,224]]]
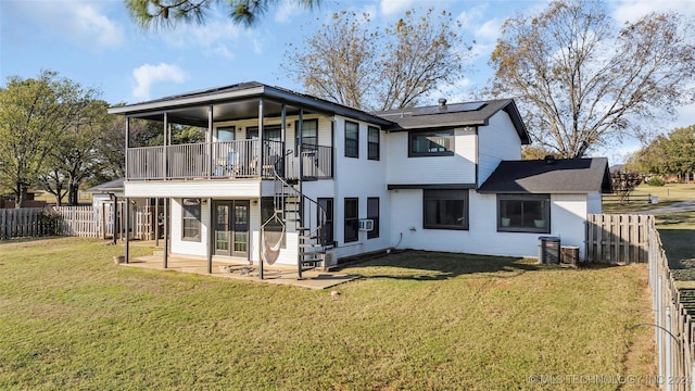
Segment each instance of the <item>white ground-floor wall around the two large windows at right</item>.
[[[465,252],[472,254],[538,257],[538,238],[560,238],[561,245],[580,248],[583,258],[584,194],[551,197],[551,234],[497,232],[497,198],[495,194],[469,192],[469,229],[444,230],[422,228],[422,190],[392,190],[393,245],[400,249]],[[397,213],[407,211],[407,213]]]

